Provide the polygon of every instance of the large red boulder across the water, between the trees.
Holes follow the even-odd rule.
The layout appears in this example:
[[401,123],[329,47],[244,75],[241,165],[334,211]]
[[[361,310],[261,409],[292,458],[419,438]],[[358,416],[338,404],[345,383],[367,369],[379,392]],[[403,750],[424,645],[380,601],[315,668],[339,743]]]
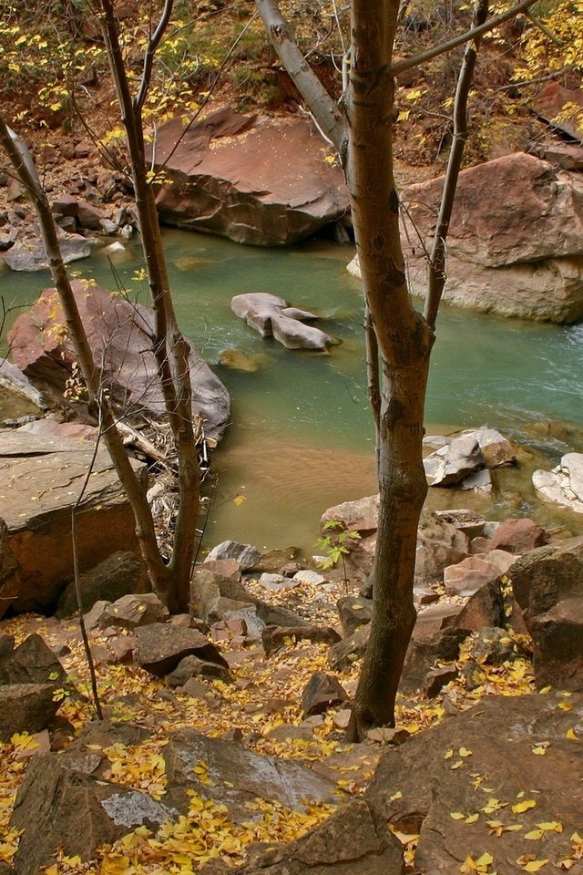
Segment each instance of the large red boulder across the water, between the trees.
[[348,211],[342,170],[327,163],[329,149],[308,120],[225,108],[185,127],[173,118],[158,132],[156,166],[169,180],[158,195],[162,221],[286,246]]

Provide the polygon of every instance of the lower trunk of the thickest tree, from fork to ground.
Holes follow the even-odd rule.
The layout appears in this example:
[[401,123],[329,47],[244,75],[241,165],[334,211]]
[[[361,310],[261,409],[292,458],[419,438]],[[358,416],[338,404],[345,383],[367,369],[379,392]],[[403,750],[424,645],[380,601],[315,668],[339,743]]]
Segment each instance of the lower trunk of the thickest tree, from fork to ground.
[[405,367],[384,364],[379,429],[379,525],[373,564],[373,618],[348,739],[394,726],[394,703],[416,619],[415,545],[427,493],[422,444],[429,347]]

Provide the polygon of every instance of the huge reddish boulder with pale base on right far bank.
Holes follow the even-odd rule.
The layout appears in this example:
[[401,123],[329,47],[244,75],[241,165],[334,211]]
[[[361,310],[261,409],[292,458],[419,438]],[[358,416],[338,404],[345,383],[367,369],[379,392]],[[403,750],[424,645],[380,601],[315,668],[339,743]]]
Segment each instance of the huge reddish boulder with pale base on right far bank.
[[[444,179],[407,187],[403,245],[414,294]],[[517,153],[463,170],[447,240],[448,304],[557,323],[583,316],[583,183]],[[412,225],[414,222],[414,228]],[[414,230],[416,229],[416,230]],[[415,242],[413,249],[411,242]],[[357,264],[351,273],[358,273]]]

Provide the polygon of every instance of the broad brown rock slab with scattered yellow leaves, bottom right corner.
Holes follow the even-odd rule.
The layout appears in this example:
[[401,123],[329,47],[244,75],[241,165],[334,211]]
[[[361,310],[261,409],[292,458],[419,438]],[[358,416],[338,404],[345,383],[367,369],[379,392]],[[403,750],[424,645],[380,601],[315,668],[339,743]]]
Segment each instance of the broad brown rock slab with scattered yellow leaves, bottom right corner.
[[[555,694],[486,698],[384,754],[364,798],[375,822],[419,832],[415,870],[459,875],[468,849],[476,849],[476,857],[491,854],[500,873],[517,870],[517,859],[530,851],[553,861],[568,857],[583,807],[583,784],[573,780],[583,755],[567,732],[583,719],[583,697],[569,698],[569,712],[559,708],[564,701]],[[532,753],[540,743],[548,743],[544,767]],[[460,748],[467,757],[459,756]],[[489,798],[504,808],[486,813]],[[526,800],[534,804],[522,810]],[[452,812],[465,817],[452,818]],[[468,822],[475,812],[478,818]],[[488,820],[522,829],[487,829]],[[546,832],[544,846],[524,840],[538,823],[551,821],[563,830]],[[541,847],[544,854],[537,853]]]

